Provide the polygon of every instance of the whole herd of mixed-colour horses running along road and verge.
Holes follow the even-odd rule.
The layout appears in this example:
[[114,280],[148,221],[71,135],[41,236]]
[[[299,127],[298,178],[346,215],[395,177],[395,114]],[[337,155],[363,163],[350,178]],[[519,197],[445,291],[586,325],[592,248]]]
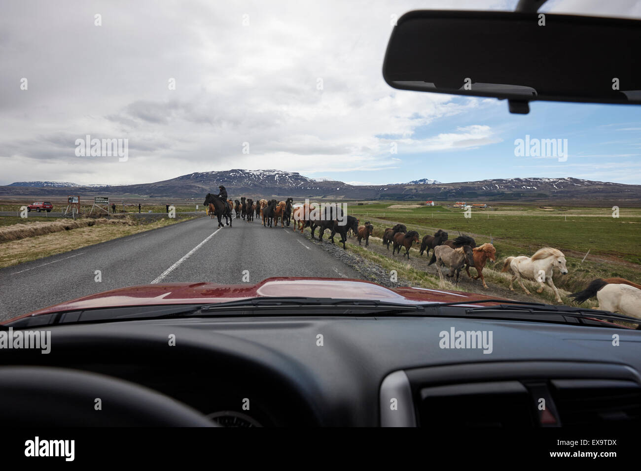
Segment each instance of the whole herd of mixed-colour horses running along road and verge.
[[[287,198],[285,201],[276,201],[276,199],[259,199],[254,202],[251,198],[242,197],[240,200],[227,200],[226,204],[212,194],[207,194],[204,201],[208,205],[209,212],[213,217],[218,218],[219,227],[222,227],[221,217],[225,217],[231,227],[232,213],[235,211],[238,219],[251,222],[254,215],[262,220],[265,227],[277,227],[280,222],[281,227],[290,227],[294,219],[293,230],[299,230],[301,234],[305,227],[310,227],[312,238],[315,238],[315,231],[319,229],[319,241],[322,241],[323,235],[327,229],[331,232],[329,240],[334,244],[334,236],[340,235],[339,244],[345,242],[347,236],[352,233],[358,238],[358,244],[361,245],[365,240],[365,247],[369,246],[369,238],[372,236],[374,226],[369,221],[360,225],[359,220],[353,216],[344,215],[340,206],[328,206],[324,213],[313,211],[313,205],[301,204],[294,206],[293,199]],[[496,249],[490,242],[477,245],[474,238],[469,235],[459,235],[453,240],[449,240],[448,234],[442,229],[438,229],[434,235],[426,235],[420,240],[417,231],[408,231],[404,224],[396,224],[394,227],[387,227],[383,233],[383,245],[389,250],[392,245],[392,255],[401,253],[405,249],[403,257],[410,260],[410,249],[413,244],[419,244],[419,254],[422,256],[432,251],[432,257],[428,265],[436,263],[438,275],[442,279],[442,267],[449,268],[446,277],[453,278],[454,283],[458,284],[461,270],[465,269],[470,279],[481,279],[483,288],[488,289],[483,277],[483,268],[489,261],[494,263],[496,260]],[[552,247],[543,247],[535,252],[532,256],[510,256],[506,258],[503,270],[501,272],[510,272],[510,290],[514,291],[513,283],[517,281],[519,286],[530,295],[528,288],[523,284],[523,279],[536,281],[539,284],[537,293],[542,293],[545,284],[554,292],[556,302],[563,302],[558,289],[554,286],[553,270],[558,270],[561,274],[568,273],[565,266],[565,255],[558,249]],[[470,274],[470,267],[476,269],[476,277]],[[599,309],[620,312],[641,318],[641,285],[624,278],[595,279],[588,287],[578,293],[569,295],[575,301],[581,303],[591,297],[597,297]]]

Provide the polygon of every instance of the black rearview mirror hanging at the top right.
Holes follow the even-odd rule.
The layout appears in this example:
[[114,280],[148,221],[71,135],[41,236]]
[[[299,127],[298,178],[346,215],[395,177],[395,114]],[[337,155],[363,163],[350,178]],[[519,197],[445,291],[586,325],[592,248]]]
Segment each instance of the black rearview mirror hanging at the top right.
[[641,104],[641,21],[548,13],[417,10],[392,31],[394,88],[529,101]]

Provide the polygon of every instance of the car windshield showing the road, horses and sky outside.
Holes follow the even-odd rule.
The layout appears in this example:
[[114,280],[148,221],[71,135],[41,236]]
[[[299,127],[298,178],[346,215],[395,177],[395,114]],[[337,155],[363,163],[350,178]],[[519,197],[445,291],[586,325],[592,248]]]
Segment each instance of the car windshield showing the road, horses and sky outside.
[[[81,297],[63,309],[504,299],[641,317],[641,107],[519,115],[381,75],[403,13],[516,4],[4,4],[0,322]],[[541,11],[641,17],[577,8]]]

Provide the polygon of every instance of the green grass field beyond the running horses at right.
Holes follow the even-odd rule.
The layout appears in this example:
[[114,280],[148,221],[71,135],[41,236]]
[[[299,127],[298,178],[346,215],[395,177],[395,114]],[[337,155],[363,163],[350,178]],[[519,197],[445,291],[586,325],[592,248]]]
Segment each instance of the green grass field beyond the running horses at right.
[[459,231],[472,235],[479,245],[492,240],[498,263],[486,270],[500,271],[508,256],[529,256],[541,247],[556,247],[565,254],[570,270],[557,286],[570,292],[583,289],[595,277],[641,281],[641,208],[621,208],[614,218],[610,208],[499,206],[472,210],[467,219],[462,209],[451,206],[390,208],[394,204],[397,202],[353,204],[347,213],[358,217],[361,224],[369,220],[378,237],[385,227],[401,222],[421,238],[444,229],[449,238]]

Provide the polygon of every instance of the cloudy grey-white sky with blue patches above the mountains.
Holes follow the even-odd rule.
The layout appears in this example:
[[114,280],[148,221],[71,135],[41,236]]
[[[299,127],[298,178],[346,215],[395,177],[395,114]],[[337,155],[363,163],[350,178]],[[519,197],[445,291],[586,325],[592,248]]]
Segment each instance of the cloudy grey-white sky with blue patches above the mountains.
[[[146,183],[228,169],[357,184],[535,176],[641,184],[641,106],[537,102],[529,115],[511,115],[497,100],[383,81],[392,15],[516,3],[4,2],[0,185]],[[542,11],[641,18],[641,1],[551,0]],[[567,138],[569,158],[515,157],[514,140],[526,134]],[[128,161],[76,156],[86,135],[128,139]]]

